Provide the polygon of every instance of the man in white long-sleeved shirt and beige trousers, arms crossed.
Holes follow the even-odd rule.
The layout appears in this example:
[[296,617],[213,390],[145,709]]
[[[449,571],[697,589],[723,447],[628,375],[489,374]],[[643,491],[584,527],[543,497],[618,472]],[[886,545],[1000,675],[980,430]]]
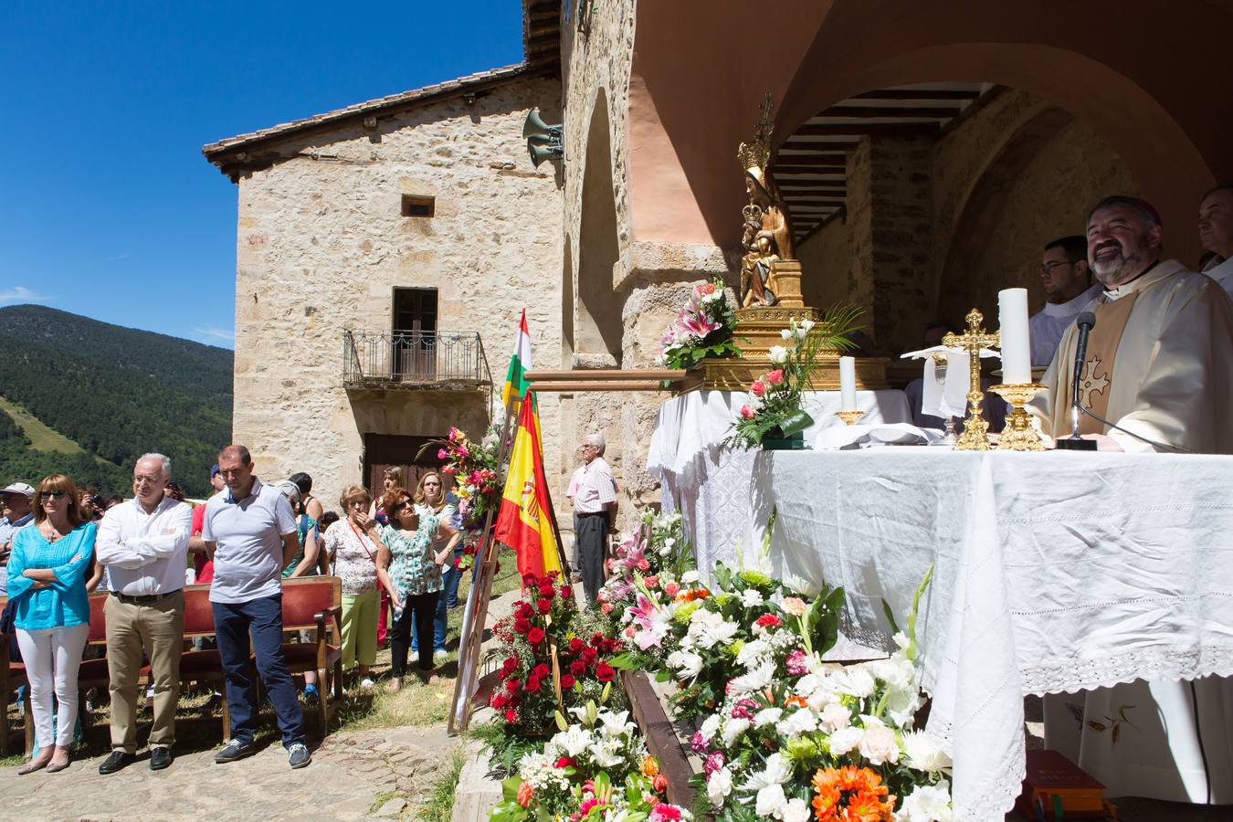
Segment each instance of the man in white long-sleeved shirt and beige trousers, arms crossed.
[[184,648],[184,572],[192,509],[163,493],[171,461],[147,454],[133,468],[133,495],[99,525],[95,556],[107,568],[107,672],[111,677],[111,755],[100,774],[137,759],[137,679],[142,651],[154,685],[150,770],[171,764],[175,706]]

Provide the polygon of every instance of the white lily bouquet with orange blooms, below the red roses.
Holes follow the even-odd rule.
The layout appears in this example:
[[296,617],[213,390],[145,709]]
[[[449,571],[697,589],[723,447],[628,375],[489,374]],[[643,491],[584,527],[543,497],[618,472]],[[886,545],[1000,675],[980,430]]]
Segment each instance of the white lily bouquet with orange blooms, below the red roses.
[[667,780],[646,752],[628,711],[599,710],[594,702],[572,709],[570,725],[557,714],[560,733],[544,751],[528,753],[518,774],[504,780],[504,801],[493,822],[528,820],[604,820],[673,822],[690,820],[682,807],[662,800]]

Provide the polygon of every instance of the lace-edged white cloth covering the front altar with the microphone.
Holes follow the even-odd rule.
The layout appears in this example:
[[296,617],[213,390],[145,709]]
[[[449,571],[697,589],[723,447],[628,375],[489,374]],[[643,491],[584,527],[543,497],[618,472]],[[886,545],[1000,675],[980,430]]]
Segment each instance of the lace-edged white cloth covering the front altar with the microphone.
[[1233,674],[1233,457],[778,451],[751,478],[777,576],[847,593],[856,638],[906,614],[956,820],[1001,820],[1026,694]]

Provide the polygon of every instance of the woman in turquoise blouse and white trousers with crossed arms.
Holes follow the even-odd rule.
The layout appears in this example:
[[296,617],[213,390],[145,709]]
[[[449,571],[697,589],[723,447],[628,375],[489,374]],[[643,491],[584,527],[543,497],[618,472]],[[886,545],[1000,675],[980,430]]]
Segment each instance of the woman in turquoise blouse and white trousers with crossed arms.
[[[9,599],[30,680],[30,706],[38,755],[17,773],[69,767],[69,742],[78,714],[78,667],[90,633],[85,577],[94,561],[95,524],[64,474],[44,477],[35,494],[35,523],[17,531],[9,557]],[[58,710],[53,731],[52,694]],[[52,739],[55,744],[52,746]]]

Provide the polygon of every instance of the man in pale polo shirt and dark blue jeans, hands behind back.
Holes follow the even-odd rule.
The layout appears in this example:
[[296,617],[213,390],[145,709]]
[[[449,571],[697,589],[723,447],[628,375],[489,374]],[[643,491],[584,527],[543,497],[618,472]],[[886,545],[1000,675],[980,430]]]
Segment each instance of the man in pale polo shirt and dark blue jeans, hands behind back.
[[281,572],[300,550],[296,518],[287,498],[253,474],[253,458],[243,445],[228,445],[219,452],[218,472],[227,489],[206,503],[201,527],[215,562],[210,603],[231,714],[231,741],[215,754],[215,762],[236,762],[256,752],[256,706],[248,662],[252,637],[256,670],[277,714],[289,763],[303,768],[312,755],[305,746],[300,695],[282,658]]

